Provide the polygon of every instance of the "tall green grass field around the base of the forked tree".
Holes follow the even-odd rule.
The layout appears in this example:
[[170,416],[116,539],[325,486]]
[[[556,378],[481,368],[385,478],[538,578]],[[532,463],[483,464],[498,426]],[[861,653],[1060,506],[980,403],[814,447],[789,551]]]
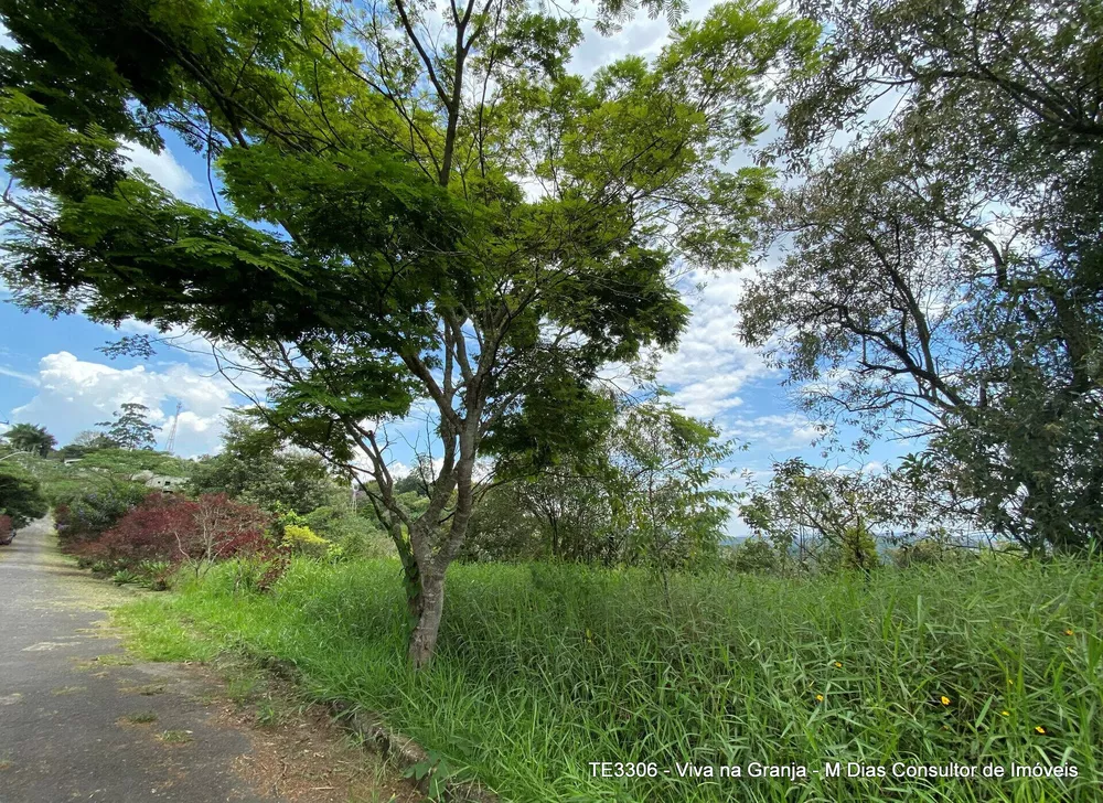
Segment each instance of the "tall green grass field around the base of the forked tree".
[[[151,657],[248,645],[379,711],[513,801],[1096,801],[1103,567],[979,563],[790,580],[456,566],[439,654],[407,668],[397,564],[233,566],[124,609]],[[202,631],[196,638],[189,628]],[[641,762],[654,778],[593,777]],[[824,775],[826,762],[885,775]],[[751,763],[806,779],[749,778]],[[1003,778],[895,778],[998,765]],[[714,767],[682,778],[679,765]],[[1013,764],[1077,778],[1011,779]],[[736,767],[740,778],[720,777]],[[617,772],[615,768],[610,768]],[[670,771],[670,774],[666,773]],[[1065,772],[1072,772],[1067,769]]]

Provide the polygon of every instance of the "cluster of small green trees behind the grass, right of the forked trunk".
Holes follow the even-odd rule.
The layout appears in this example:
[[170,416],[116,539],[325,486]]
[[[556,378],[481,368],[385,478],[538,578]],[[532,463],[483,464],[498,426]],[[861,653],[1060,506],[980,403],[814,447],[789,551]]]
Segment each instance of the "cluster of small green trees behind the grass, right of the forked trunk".
[[571,459],[483,496],[464,557],[660,569],[716,557],[733,496],[717,486],[731,450],[711,424],[685,416],[660,393],[623,406],[591,437],[576,443]]

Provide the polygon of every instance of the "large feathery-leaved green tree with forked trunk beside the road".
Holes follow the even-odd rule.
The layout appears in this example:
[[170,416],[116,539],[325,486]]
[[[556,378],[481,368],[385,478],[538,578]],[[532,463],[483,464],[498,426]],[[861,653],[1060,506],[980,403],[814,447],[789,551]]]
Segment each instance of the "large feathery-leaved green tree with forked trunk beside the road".
[[[625,9],[600,3],[599,21]],[[8,195],[18,297],[186,325],[259,374],[270,426],[349,471],[366,461],[418,665],[476,459],[585,448],[611,415],[599,368],[685,325],[675,266],[746,257],[769,172],[718,165],[761,130],[763,77],[815,36],[729,3],[651,62],[583,78],[567,69],[579,20],[512,0],[0,11],[21,46],[0,60],[3,153],[32,193]],[[214,165],[222,211],[126,170],[119,140],[165,129]],[[416,517],[385,436],[415,402],[433,441]]]

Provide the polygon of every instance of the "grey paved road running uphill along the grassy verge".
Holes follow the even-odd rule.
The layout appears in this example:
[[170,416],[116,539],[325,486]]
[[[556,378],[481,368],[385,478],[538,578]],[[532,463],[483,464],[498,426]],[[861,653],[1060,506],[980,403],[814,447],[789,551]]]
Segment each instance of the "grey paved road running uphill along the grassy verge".
[[278,800],[235,772],[250,741],[217,721],[216,682],[127,664],[104,628],[126,598],[63,557],[45,520],[0,547],[0,803]]

